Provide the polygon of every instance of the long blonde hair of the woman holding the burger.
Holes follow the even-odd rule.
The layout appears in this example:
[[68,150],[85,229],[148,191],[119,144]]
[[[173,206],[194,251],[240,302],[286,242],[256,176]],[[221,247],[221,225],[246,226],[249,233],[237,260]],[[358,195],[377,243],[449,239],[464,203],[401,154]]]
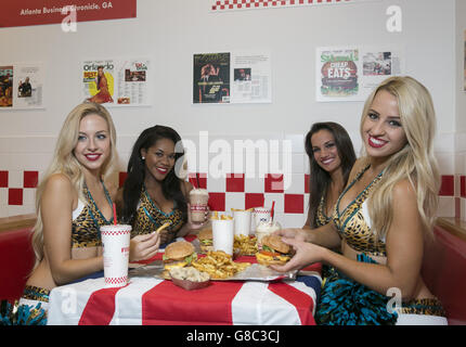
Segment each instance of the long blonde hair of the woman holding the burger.
[[372,229],[377,239],[384,237],[392,220],[392,189],[407,179],[417,195],[417,209],[427,234],[432,227],[438,206],[440,175],[433,155],[436,114],[429,91],[412,77],[390,77],[383,81],[365,102],[362,126],[375,95],[385,90],[397,98],[401,125],[407,143],[389,158],[381,181],[367,201]]

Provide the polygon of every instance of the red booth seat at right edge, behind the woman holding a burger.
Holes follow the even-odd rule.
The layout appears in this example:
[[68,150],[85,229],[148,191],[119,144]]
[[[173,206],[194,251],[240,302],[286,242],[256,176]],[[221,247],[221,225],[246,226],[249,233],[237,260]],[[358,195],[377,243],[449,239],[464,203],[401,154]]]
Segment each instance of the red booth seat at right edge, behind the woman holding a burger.
[[423,279],[443,304],[451,325],[466,324],[466,241],[436,227],[424,248]]

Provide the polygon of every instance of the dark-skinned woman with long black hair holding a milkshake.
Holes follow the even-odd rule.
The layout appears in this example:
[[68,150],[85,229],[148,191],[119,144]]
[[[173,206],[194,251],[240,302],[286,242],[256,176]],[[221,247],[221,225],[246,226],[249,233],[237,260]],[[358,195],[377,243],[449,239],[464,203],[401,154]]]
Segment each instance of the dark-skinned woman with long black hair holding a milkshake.
[[207,221],[195,223],[189,214],[190,182],[179,178],[184,151],[177,131],[165,126],[145,129],[135,141],[128,163],[128,176],[117,193],[116,204],[121,222],[132,226],[131,250],[138,259],[148,259],[160,244],[198,230]]

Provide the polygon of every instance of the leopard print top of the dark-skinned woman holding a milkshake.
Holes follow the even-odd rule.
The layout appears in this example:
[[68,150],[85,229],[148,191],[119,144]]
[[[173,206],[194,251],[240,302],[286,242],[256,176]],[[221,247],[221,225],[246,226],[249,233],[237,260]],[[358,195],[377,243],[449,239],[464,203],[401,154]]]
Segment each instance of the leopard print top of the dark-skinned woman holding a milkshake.
[[173,209],[166,214],[160,210],[152,201],[151,196],[145,189],[142,187],[141,197],[137,208],[137,216],[133,222],[133,228],[131,232],[131,237],[140,234],[147,234],[158,229],[158,227],[170,222],[167,228],[168,234],[170,235],[166,242],[171,241],[181,227],[185,223],[185,218],[183,218],[183,213],[177,206],[177,202],[173,201]]

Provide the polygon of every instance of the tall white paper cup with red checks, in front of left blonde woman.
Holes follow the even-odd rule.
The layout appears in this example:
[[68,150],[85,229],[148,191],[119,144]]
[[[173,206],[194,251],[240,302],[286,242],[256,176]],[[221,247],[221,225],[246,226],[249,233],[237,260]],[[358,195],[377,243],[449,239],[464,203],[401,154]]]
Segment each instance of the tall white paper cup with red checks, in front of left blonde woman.
[[131,226],[102,226],[101,235],[104,257],[105,286],[125,286],[128,283]]

